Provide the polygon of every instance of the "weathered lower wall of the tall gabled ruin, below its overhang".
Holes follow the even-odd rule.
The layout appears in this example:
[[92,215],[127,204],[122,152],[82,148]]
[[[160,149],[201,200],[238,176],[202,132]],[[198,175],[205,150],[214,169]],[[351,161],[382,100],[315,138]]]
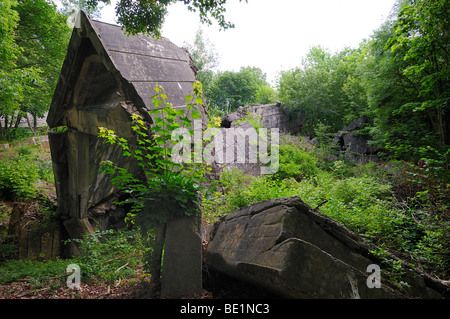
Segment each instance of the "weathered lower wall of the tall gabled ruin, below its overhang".
[[[102,123],[93,121],[94,117],[89,118],[92,126],[88,128],[101,126]],[[113,125],[109,127],[124,132],[126,128],[130,130],[130,123],[122,128]],[[118,146],[106,145],[96,135],[82,131],[70,129],[65,133],[50,133],[49,140],[59,215],[67,221],[65,225],[92,224],[100,229],[116,228],[118,225],[115,224],[121,223],[126,212],[113,204],[119,199],[119,194],[111,184],[112,176],[100,173],[100,165],[102,161],[110,160],[133,173],[138,170],[137,167],[133,168],[135,162],[123,157]],[[73,218],[78,221],[70,222]],[[82,236],[83,232],[79,232],[83,227],[73,229],[71,236]],[[86,227],[84,232],[91,232],[91,228]]]

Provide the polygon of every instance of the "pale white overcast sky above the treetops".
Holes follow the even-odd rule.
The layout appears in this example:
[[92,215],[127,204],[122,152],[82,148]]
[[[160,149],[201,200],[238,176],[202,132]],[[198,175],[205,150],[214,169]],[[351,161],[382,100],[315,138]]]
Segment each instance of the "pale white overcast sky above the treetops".
[[[114,0],[112,1],[114,2]],[[219,70],[256,66],[274,83],[279,71],[299,66],[309,49],[331,52],[357,47],[387,18],[395,0],[239,0],[227,1],[225,17],[235,29],[201,25],[182,2],[169,7],[162,35],[178,46],[192,43],[201,27],[219,54]],[[114,22],[114,5],[100,20]]]

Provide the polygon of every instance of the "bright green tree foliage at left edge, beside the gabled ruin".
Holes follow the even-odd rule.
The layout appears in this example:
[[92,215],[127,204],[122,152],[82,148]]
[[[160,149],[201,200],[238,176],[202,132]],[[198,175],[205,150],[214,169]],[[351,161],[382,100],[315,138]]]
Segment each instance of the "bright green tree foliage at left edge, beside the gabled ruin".
[[27,113],[36,119],[48,110],[70,36],[67,17],[53,1],[8,0],[6,4],[0,6],[8,16],[2,49],[9,52],[8,63],[0,62],[2,137]]

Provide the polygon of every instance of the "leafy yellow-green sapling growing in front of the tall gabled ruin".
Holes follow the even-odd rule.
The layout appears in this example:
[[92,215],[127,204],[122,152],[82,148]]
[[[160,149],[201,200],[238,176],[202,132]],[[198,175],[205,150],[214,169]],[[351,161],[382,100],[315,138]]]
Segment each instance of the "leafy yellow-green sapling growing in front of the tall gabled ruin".
[[[175,108],[167,101],[161,86],[155,87],[152,97],[154,108],[149,111],[154,124],[149,126],[141,115],[133,114],[132,129],[135,141],[118,137],[107,128],[100,128],[99,137],[106,143],[117,144],[122,154],[136,161],[141,176],[133,176],[127,169],[111,161],[103,162],[103,172],[113,174],[112,183],[129,195],[120,204],[131,204],[128,220],[137,224],[143,233],[157,228],[155,249],[148,256],[153,280],[159,281],[161,256],[164,244],[165,223],[174,217],[194,216],[200,213],[200,192],[206,181],[208,166],[201,159],[183,154],[184,162],[173,158],[175,147],[189,146],[194,135],[192,119],[201,119],[195,109],[201,107],[201,83],[193,84],[194,96],[186,97],[190,119],[184,109]],[[176,134],[178,132],[179,134]],[[186,138],[189,137],[189,138]],[[181,143],[181,144],[180,144]]]

